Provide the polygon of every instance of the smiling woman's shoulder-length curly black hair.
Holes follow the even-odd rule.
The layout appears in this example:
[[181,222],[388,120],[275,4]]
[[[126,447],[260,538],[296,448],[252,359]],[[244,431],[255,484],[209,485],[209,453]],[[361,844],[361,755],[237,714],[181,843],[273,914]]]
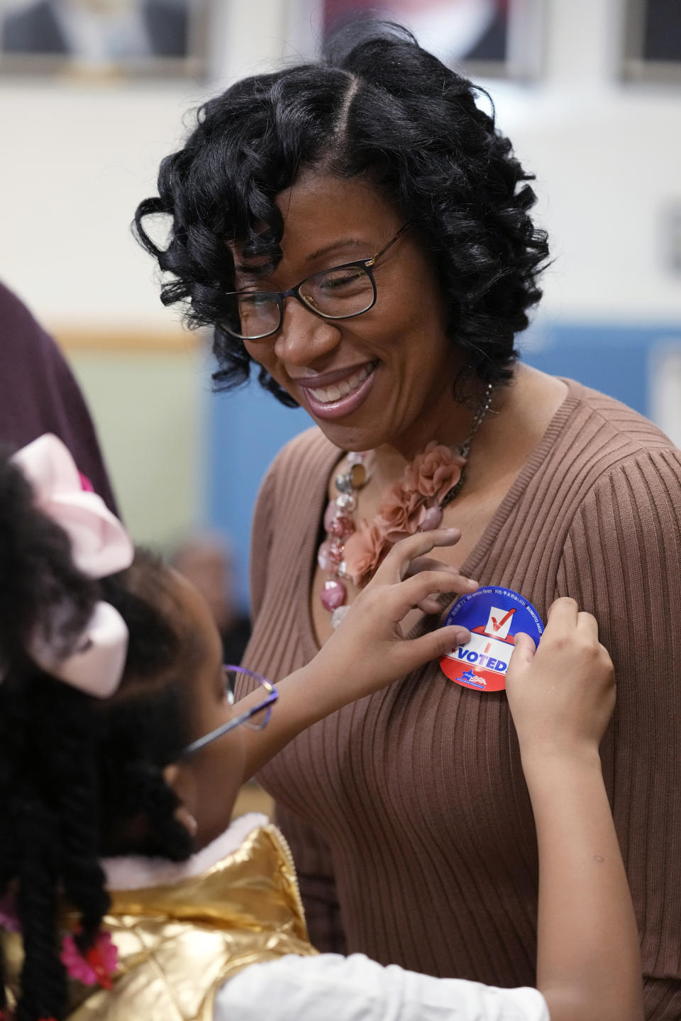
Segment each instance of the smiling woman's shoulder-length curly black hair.
[[[245,79],[199,108],[183,148],[160,165],[158,197],[138,206],[135,231],[169,275],[163,304],[183,301],[189,326],[214,327],[217,388],[244,383],[251,361],[220,328],[235,314],[228,242],[271,273],[284,230],[276,197],[310,166],[364,176],[397,203],[433,255],[467,364],[484,382],[510,377],[548,246],[528,212],[533,175],[476,105],[480,91],[406,30],[359,21],[319,62]],[[172,217],[164,245],[145,227],[156,214]],[[258,379],[295,406],[264,370]]]

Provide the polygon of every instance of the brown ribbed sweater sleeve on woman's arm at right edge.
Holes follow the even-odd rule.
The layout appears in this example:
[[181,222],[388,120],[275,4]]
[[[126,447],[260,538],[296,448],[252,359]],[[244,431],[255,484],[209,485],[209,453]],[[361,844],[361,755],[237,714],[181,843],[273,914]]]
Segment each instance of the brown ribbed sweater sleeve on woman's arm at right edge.
[[647,1021],[681,1018],[681,453],[623,458],[575,516],[555,595],[592,613],[618,700],[600,748],[641,933]]

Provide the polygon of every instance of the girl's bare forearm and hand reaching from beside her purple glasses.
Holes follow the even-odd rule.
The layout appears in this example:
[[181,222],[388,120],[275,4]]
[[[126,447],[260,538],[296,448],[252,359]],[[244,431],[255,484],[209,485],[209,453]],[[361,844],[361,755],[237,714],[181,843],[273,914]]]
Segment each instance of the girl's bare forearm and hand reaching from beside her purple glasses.
[[[459,537],[457,529],[423,532],[393,546],[314,659],[277,685],[279,698],[266,728],[244,732],[244,780],[318,720],[468,641],[470,632],[458,626],[408,640],[400,630],[400,621],[410,610],[429,605],[429,595],[472,592],[478,587],[437,562],[426,562],[429,569],[407,577],[412,561],[434,546],[453,545]],[[261,697],[252,692],[239,701],[239,712]]]

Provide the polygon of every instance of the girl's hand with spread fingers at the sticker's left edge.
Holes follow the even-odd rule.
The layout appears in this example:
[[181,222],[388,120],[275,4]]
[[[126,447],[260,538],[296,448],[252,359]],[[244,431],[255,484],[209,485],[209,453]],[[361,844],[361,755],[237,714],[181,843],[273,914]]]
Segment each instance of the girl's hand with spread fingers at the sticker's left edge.
[[[338,678],[352,698],[371,694],[436,660],[471,637],[457,625],[406,639],[400,622],[416,606],[433,613],[436,593],[466,593],[478,582],[455,568],[424,557],[434,546],[458,542],[458,529],[420,532],[395,543],[367,587],[356,596],[338,630],[317,660]],[[414,562],[414,564],[412,564]],[[425,568],[409,575],[414,567]],[[321,665],[321,664],[320,664]]]

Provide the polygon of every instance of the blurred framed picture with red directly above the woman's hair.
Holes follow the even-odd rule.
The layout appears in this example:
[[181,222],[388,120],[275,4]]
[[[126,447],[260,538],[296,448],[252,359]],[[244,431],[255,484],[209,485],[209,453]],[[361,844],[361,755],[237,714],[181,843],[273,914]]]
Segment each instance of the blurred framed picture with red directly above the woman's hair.
[[403,25],[443,63],[473,79],[532,80],[542,70],[546,0],[294,0],[294,7],[293,34],[303,52],[358,17]]

